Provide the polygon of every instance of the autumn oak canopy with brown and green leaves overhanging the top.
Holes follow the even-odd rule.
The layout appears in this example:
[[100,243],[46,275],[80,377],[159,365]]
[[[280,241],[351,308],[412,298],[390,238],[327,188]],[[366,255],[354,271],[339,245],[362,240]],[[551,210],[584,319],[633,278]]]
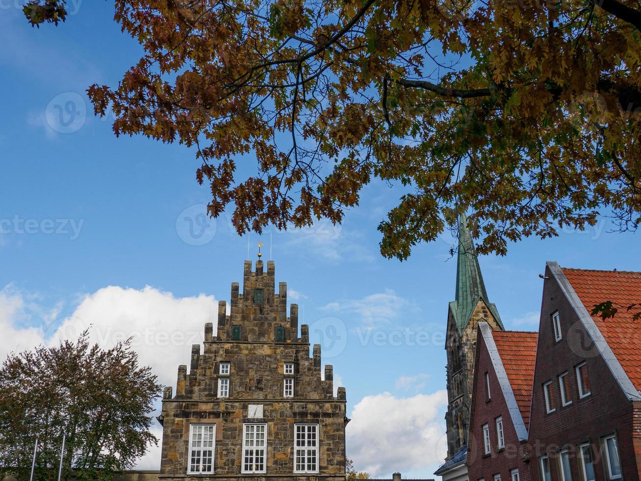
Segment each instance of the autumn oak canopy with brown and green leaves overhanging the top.
[[115,0],[115,21],[144,56],[88,89],[96,114],[194,148],[240,234],[340,223],[376,179],[403,190],[386,257],[468,208],[481,253],[641,221],[638,0]]

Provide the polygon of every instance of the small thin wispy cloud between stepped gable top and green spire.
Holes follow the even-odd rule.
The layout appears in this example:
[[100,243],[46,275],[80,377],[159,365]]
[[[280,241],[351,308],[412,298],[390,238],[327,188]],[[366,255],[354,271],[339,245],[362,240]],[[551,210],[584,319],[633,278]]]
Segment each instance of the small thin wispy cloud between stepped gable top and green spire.
[[358,316],[361,323],[368,327],[389,325],[393,319],[399,317],[401,311],[407,308],[415,310],[416,306],[397,296],[392,289],[385,289],[385,292],[370,294],[362,299],[331,302],[322,307],[326,311],[345,312]]

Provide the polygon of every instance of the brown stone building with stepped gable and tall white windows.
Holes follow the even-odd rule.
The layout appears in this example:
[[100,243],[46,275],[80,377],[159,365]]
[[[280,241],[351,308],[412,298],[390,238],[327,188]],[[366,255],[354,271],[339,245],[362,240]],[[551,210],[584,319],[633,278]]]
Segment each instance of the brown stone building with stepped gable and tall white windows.
[[274,262],[246,261],[231,314],[219,303],[217,332],[178,367],[176,394],[163,393],[161,480],[345,479],[345,389],[321,379],[320,346],[310,357],[298,307],[287,316],[287,285],[275,291]]

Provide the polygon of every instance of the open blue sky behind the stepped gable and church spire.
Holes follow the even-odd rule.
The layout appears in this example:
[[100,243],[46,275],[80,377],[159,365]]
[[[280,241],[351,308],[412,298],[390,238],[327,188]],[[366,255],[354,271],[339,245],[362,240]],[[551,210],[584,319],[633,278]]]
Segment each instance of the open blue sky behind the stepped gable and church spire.
[[[110,322],[105,299],[122,300],[118,308],[124,309],[125,300],[139,307],[137,299],[163,292],[176,312],[193,301],[196,317],[208,303],[228,300],[230,283],[242,282],[247,237],[231,230],[228,215],[206,220],[201,237],[189,233],[189,222],[201,230],[198,214],[208,201],[208,187],[195,181],[194,152],[139,137],[116,139],[110,122],[91,114],[85,89],[115,85],[140,56],[137,43],[112,21],[112,4],[76,0],[76,14],[66,24],[38,30],[24,21],[19,3],[0,0],[0,322],[15,333],[0,354],[27,347],[38,335],[48,339],[92,306],[97,310],[86,316]],[[67,125],[69,101],[76,117]],[[253,169],[251,160],[242,160],[242,172]],[[288,283],[290,301],[297,297],[312,342],[324,333],[324,362],[333,364],[347,388],[354,414],[347,450],[356,468],[424,477],[442,452],[445,407],[439,391],[445,387],[443,339],[456,263],[449,259],[449,235],[418,246],[406,262],[381,258],[376,226],[398,197],[398,190],[374,183],[342,226],[321,222],[249,240],[251,258],[258,241],[267,244],[265,257],[271,249],[277,282]],[[538,273],[545,260],[641,270],[638,235],[610,229],[603,219],[589,232],[527,239],[510,245],[506,257],[481,258],[490,300],[506,328],[537,328]],[[144,321],[154,325],[157,319],[149,314]],[[181,328],[178,320],[163,322]],[[164,349],[182,362],[183,347]],[[158,374],[174,378],[174,371]],[[399,409],[406,410],[404,419],[394,413]],[[385,429],[422,439],[424,448],[395,451],[380,444],[390,454],[381,462],[370,459],[363,437],[378,434],[368,421],[374,416],[393,419]],[[153,467],[150,459],[145,467]]]

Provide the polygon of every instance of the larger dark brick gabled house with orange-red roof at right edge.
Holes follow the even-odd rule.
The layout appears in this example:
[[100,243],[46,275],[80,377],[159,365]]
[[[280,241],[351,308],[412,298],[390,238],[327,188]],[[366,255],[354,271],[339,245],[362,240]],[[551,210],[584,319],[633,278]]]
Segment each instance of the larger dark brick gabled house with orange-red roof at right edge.
[[[613,319],[591,316],[613,301]],[[538,481],[638,480],[641,471],[641,273],[547,262],[529,444]]]

